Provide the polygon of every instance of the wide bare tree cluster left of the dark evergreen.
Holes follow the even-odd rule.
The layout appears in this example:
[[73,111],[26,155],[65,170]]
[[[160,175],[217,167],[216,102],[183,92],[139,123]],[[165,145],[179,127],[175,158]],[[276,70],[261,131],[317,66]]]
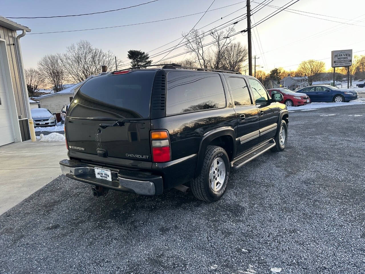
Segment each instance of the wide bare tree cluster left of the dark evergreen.
[[[102,65],[106,65],[112,71],[115,70],[114,54],[110,50],[104,52],[93,47],[86,40],[80,40],[76,45],[68,46],[66,52],[58,56],[69,81],[81,82],[91,75],[97,75],[101,72]],[[118,58],[117,65],[122,65],[122,61]]]

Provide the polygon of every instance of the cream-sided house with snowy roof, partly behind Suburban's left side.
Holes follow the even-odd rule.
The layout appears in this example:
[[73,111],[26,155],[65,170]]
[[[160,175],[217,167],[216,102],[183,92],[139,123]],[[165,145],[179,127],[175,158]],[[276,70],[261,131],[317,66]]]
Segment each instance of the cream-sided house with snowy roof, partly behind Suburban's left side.
[[[85,81],[91,79],[92,77],[95,77],[95,75],[88,77]],[[70,87],[64,90],[41,95],[33,99],[38,100],[41,107],[49,109],[51,113],[60,113],[62,107],[72,101],[73,96],[75,96],[76,92],[85,81],[78,84],[72,84]]]

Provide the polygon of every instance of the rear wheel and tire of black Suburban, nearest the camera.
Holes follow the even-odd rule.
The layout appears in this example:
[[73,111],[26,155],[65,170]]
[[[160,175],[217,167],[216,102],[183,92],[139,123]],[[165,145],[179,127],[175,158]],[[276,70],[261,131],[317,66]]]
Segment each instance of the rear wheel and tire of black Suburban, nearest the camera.
[[[223,174],[224,178],[221,179]],[[229,174],[230,161],[227,152],[220,146],[209,145],[201,172],[191,181],[193,195],[205,202],[218,201],[226,191]]]

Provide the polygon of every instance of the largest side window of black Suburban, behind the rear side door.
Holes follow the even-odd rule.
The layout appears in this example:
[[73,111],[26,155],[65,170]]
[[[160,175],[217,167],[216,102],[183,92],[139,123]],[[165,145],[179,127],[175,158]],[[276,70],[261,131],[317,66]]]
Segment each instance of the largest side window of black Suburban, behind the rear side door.
[[170,71],[168,73],[167,115],[225,106],[226,96],[217,73],[195,71]]

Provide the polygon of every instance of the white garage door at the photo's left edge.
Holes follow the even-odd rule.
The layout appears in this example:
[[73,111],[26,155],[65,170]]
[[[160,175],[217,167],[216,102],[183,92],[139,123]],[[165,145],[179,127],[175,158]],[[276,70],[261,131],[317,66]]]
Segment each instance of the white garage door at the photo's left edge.
[[5,92],[5,80],[0,48],[0,145],[14,142],[8,99]]

